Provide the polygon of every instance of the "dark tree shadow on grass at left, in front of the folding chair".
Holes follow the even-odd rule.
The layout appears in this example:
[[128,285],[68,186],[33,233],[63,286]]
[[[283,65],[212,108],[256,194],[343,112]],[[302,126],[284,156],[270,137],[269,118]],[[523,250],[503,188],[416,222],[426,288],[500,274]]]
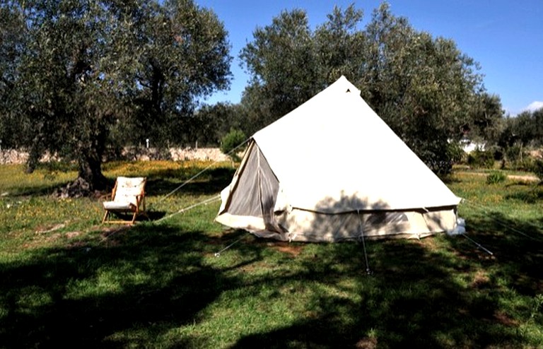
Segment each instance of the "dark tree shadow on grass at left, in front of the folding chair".
[[[224,289],[240,287],[203,262],[202,232],[141,225],[100,244],[40,249],[0,265],[5,348],[119,348],[198,321]],[[194,340],[197,341],[197,340]],[[191,346],[189,336],[173,346]]]

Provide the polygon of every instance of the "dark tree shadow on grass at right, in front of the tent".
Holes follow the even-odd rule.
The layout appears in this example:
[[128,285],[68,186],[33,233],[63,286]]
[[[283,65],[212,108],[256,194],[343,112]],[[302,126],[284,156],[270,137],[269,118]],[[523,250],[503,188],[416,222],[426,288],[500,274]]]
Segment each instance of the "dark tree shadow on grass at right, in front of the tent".
[[[279,286],[303,280],[305,293],[312,294],[310,300],[303,300],[306,314],[285,326],[243,336],[233,348],[534,345],[518,329],[529,314],[519,318],[504,302],[511,288],[519,297],[543,291],[538,271],[543,246],[502,239],[507,230],[484,226],[490,222],[474,224],[488,231],[488,235],[476,232],[481,237],[493,237],[490,243],[499,241],[496,257],[478,251],[460,236],[327,245],[313,259],[300,261],[302,271],[262,281]],[[321,224],[314,222],[317,229]],[[530,260],[522,260],[520,254],[527,251],[532,252]],[[366,273],[366,259],[372,275]],[[323,288],[329,291],[320,291]]]

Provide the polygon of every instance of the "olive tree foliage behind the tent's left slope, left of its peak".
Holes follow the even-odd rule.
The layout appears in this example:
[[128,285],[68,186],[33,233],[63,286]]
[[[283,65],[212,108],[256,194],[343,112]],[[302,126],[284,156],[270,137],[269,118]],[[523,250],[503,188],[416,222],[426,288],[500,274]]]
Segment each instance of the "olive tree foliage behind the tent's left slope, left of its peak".
[[240,58],[252,74],[245,94],[267,101],[264,126],[308,100],[321,85],[315,83],[318,63],[305,11],[282,11],[271,25],[257,28],[253,36]]

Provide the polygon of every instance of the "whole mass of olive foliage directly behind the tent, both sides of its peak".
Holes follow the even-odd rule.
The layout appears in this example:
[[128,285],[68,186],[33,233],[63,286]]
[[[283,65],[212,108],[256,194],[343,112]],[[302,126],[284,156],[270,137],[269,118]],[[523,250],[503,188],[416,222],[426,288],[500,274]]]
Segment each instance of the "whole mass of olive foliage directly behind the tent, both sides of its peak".
[[479,65],[452,40],[415,30],[386,3],[363,29],[362,19],[351,5],[334,8],[315,30],[303,10],[257,28],[240,54],[252,76],[242,102],[264,114],[258,129],[344,75],[427,165],[447,172],[449,141],[484,132],[477,125],[501,118],[499,100],[486,94]]

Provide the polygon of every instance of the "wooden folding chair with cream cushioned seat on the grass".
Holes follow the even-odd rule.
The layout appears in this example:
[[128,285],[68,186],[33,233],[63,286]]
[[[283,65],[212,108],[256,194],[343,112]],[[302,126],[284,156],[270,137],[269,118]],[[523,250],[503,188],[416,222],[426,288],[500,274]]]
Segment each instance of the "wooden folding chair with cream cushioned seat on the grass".
[[[117,177],[115,187],[111,192],[111,201],[104,201],[104,218],[102,223],[134,224],[139,215],[145,211],[145,177]],[[107,220],[110,213],[118,217],[122,214],[132,215],[132,220]]]

